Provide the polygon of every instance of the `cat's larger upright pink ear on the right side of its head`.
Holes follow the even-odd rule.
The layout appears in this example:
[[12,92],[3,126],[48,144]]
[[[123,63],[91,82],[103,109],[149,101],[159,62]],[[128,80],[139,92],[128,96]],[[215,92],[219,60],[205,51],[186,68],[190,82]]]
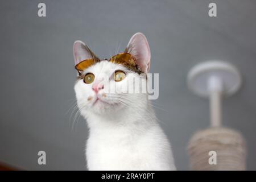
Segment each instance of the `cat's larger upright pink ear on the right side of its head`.
[[128,43],[126,52],[136,57],[136,62],[142,72],[148,73],[151,55],[150,47],[144,34],[140,32],[134,34]]

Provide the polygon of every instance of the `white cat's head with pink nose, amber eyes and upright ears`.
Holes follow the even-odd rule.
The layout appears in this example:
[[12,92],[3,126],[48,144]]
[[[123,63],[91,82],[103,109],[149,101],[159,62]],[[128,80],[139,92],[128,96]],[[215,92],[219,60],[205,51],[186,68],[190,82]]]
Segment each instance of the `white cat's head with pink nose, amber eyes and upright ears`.
[[[148,73],[150,48],[142,33],[131,37],[125,53],[135,57],[139,73]],[[81,41],[74,43],[73,54],[76,65],[88,59],[94,61],[94,64],[80,72],[75,84],[77,104],[83,113],[112,114],[125,107],[136,106],[146,97],[143,93],[129,92],[132,86],[141,86],[134,85],[134,80],[145,80],[145,74],[138,74],[123,64],[98,59]]]

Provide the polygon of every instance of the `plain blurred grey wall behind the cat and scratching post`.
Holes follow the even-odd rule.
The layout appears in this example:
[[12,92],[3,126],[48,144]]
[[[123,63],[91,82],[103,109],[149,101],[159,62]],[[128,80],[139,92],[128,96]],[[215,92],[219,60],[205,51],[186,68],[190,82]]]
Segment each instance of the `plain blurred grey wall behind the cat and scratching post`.
[[[46,17],[38,4],[46,3]],[[217,17],[208,5],[217,5]],[[188,169],[186,146],[209,126],[208,100],[187,89],[193,65],[233,63],[243,86],[223,105],[223,124],[247,140],[247,169],[256,169],[256,2],[254,0],[110,0],[0,2],[0,164],[18,169],[85,170],[88,128],[73,110],[72,46],[82,40],[101,58],[122,52],[135,32],[151,48],[159,73],[154,101],[172,143],[177,169]],[[46,151],[46,165],[38,151]]]

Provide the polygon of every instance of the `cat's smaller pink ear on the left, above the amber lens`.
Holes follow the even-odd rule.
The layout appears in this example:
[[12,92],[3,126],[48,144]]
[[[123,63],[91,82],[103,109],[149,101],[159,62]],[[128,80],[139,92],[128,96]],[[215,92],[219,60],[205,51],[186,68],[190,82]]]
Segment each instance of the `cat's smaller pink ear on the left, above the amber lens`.
[[73,54],[75,59],[75,64],[80,63],[85,59],[94,59],[94,61],[98,61],[98,57],[94,55],[92,51],[90,51],[89,47],[85,45],[85,43],[80,40],[76,40],[73,45]]

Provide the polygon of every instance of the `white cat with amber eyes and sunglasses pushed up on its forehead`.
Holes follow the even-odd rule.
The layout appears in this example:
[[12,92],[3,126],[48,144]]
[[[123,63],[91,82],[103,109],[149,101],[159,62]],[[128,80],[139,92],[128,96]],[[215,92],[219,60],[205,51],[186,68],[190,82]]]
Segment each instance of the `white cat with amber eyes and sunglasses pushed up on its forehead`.
[[[125,52],[135,57],[141,73],[148,73],[150,47],[142,33],[131,37]],[[75,84],[77,105],[89,127],[87,168],[176,170],[171,145],[147,94],[124,92],[127,82],[133,83],[133,78],[139,77],[138,73],[122,64],[98,59],[80,40],[73,45],[73,55],[75,64],[88,59],[95,61],[79,73]],[[110,82],[115,88],[108,89],[116,89],[118,93],[107,92],[106,85]]]

